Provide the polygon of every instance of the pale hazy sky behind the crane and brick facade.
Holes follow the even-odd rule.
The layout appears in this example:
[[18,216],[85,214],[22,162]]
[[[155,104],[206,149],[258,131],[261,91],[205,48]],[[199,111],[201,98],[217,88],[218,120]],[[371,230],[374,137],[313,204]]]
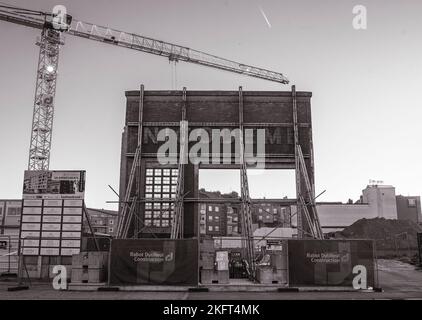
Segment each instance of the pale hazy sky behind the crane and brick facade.
[[[61,4],[82,21],[282,72],[313,93],[315,191],[326,190],[319,201],[357,200],[370,179],[422,194],[421,1],[2,1],[43,11]],[[367,8],[366,30],[352,26],[356,5]],[[0,198],[22,193],[39,33],[0,21]],[[86,170],[88,206],[116,207],[106,201],[117,200],[108,185],[119,184],[126,90],[290,90],[186,63],[176,70],[174,83],[166,58],[66,37],[50,169]],[[287,176],[255,176],[251,193],[279,197]],[[210,189],[238,184],[230,175],[201,179]]]

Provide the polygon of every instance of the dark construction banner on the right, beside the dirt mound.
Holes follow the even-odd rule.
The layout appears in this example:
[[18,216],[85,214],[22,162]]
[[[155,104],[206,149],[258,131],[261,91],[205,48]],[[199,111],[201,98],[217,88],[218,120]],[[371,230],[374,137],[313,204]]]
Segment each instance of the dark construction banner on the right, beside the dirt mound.
[[374,256],[372,240],[288,240],[289,285],[353,287],[364,267],[375,287]]

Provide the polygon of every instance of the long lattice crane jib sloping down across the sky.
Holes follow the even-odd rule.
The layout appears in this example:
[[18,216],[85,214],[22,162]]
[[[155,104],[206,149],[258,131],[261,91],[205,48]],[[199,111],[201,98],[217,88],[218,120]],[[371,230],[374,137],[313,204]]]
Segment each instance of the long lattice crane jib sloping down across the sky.
[[[34,12],[42,17],[34,17]],[[245,65],[177,44],[74,20],[67,14],[58,21],[54,21],[54,18],[55,16],[50,13],[0,6],[0,20],[38,29],[55,29],[58,32],[67,32],[77,37],[165,56],[172,61],[185,61],[272,82],[289,83],[289,80],[279,72]]]

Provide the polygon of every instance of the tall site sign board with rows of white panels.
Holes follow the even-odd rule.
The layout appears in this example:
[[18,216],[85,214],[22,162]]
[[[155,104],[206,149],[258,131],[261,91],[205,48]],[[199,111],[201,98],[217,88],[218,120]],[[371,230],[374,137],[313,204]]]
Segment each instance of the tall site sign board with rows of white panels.
[[[42,233],[37,243],[21,241],[24,255],[59,255],[62,230],[72,231],[75,245],[61,255],[79,252],[84,192],[85,171],[25,171],[20,238]],[[35,245],[38,249],[32,250]]]

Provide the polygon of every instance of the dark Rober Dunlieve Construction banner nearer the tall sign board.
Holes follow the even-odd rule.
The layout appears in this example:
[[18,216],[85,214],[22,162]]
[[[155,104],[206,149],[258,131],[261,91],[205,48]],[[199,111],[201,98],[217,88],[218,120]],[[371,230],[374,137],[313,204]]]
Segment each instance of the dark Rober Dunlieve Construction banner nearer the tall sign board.
[[115,239],[110,285],[198,284],[197,239]]

